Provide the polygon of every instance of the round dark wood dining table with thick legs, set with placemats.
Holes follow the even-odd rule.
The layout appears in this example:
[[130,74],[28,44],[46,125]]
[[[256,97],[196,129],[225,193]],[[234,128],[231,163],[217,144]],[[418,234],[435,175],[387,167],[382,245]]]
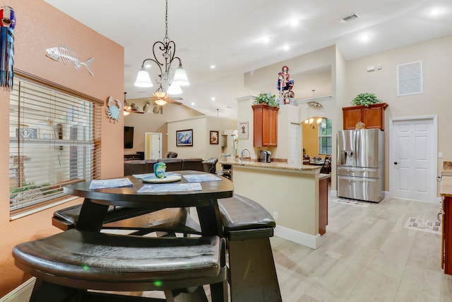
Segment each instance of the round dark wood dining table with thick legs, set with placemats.
[[[76,228],[79,231],[100,232],[107,210],[112,206],[153,211],[196,207],[201,236],[224,237],[218,199],[233,196],[232,181],[220,175],[194,170],[167,173],[168,178],[174,175],[178,178],[180,176],[180,180],[149,183],[146,180],[153,178],[153,175],[149,174],[147,178],[146,175],[129,175],[113,179],[121,182],[130,180],[126,187],[93,189],[90,188],[92,181],[88,180],[66,185],[66,194],[84,198]],[[207,301],[203,286],[192,289],[186,295],[189,296],[184,296],[183,301]]]

